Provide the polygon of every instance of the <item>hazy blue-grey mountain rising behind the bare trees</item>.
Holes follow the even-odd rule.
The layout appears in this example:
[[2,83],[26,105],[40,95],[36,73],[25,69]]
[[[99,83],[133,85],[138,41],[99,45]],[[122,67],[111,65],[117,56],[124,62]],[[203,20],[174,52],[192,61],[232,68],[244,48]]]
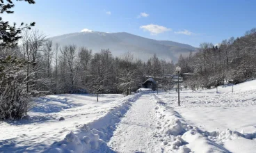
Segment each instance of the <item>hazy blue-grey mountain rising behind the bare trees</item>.
[[167,61],[177,61],[180,54],[187,56],[190,51],[196,51],[195,47],[167,40],[152,40],[130,33],[103,33],[81,32],[59,35],[49,38],[54,43],[63,45],[77,45],[87,47],[95,52],[101,49],[110,49],[113,56],[122,56],[130,51],[136,58],[146,61],[157,54],[159,58]]

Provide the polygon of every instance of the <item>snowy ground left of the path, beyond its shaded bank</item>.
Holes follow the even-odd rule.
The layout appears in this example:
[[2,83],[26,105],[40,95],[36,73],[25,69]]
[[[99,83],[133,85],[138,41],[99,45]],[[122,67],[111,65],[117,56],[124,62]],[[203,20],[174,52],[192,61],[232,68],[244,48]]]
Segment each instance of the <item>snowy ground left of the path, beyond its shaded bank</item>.
[[[123,95],[49,95],[36,99],[31,120],[0,122],[0,152],[39,152],[81,124],[93,122],[126,102]],[[65,120],[59,121],[59,118]]]

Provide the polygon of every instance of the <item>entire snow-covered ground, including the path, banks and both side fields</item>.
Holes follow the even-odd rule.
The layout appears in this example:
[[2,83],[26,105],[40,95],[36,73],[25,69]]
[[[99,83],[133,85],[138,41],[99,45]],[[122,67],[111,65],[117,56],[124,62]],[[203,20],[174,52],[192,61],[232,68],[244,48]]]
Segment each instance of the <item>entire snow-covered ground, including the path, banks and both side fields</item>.
[[[256,152],[256,81],[211,90],[50,95],[0,122],[0,152]],[[65,120],[59,121],[59,118]]]

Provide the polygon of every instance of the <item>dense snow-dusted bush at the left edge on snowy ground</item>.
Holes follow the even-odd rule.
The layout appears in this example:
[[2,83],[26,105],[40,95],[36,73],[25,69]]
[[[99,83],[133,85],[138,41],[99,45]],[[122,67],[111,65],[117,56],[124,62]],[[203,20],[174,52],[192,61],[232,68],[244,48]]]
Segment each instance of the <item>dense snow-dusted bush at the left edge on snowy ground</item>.
[[[33,73],[29,74],[29,76]],[[0,58],[0,118],[17,120],[31,107],[26,61],[13,56]]]

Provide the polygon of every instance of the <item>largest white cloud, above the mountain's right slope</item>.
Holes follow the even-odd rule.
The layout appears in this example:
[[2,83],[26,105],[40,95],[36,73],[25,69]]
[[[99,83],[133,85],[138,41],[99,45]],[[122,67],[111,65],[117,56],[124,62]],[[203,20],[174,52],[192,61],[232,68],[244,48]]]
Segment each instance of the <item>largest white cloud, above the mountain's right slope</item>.
[[163,33],[166,31],[172,31],[172,29],[166,28],[164,26],[159,26],[157,24],[148,24],[145,26],[140,26],[140,29],[143,29],[144,31],[150,31],[151,35],[157,35],[159,33]]

